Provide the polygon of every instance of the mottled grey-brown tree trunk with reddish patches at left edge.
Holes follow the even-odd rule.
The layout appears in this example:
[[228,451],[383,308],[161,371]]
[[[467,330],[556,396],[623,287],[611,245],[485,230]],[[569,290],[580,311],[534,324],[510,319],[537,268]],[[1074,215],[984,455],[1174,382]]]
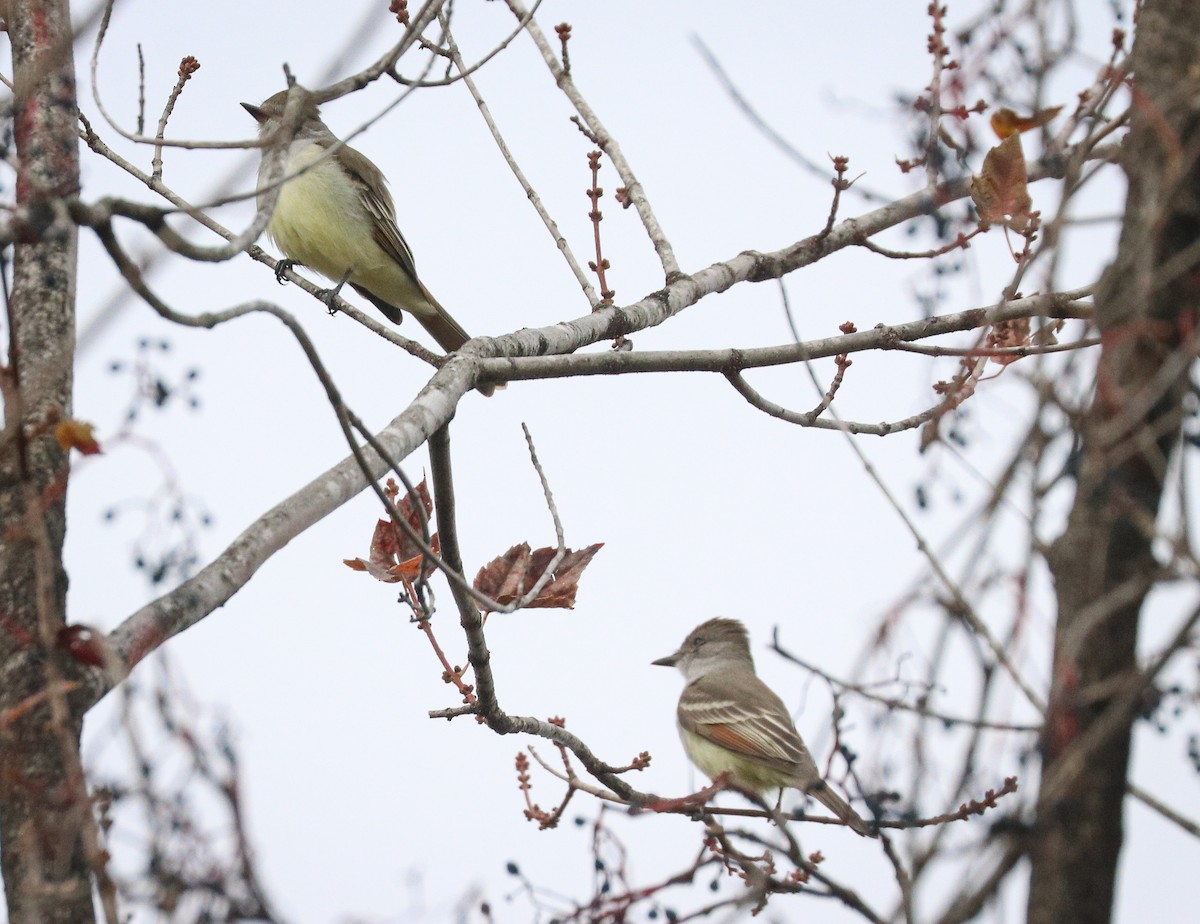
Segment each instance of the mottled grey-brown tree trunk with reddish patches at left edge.
[[82,712],[54,648],[64,623],[67,455],[79,186],[67,0],[11,0],[18,157],[8,356],[0,439],[0,862],[12,924],[94,920],[80,832],[90,806]]

